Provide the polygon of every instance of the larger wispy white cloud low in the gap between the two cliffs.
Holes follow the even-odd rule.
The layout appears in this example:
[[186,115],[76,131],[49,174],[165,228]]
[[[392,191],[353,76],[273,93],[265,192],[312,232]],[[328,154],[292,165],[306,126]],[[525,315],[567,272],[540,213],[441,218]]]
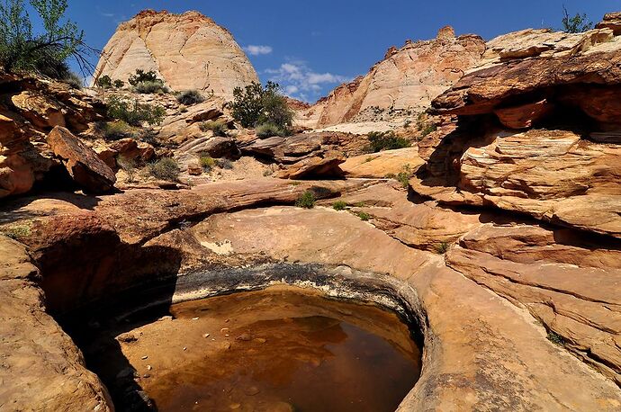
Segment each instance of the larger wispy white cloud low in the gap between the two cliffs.
[[283,87],[284,94],[304,101],[310,97],[320,97],[326,85],[338,85],[351,80],[347,76],[317,73],[303,61],[289,61],[278,68],[268,68],[266,74],[270,75],[271,81]]

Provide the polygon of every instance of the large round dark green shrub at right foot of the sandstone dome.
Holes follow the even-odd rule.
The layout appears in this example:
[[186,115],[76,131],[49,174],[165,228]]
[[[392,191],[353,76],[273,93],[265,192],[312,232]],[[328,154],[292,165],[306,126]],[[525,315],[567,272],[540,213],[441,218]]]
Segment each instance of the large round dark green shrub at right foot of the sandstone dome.
[[287,98],[280,93],[280,86],[267,82],[266,86],[253,82],[244,89],[233,90],[230,103],[233,118],[245,128],[272,123],[281,130],[289,131],[293,124],[293,111]]

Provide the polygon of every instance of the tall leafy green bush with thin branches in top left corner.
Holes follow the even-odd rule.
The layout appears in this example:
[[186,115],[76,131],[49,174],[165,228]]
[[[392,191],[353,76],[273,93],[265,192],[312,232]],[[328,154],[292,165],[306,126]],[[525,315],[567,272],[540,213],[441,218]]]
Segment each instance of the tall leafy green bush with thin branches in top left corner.
[[[32,24],[29,8],[39,15],[37,24]],[[80,67],[89,66],[84,31],[64,19],[66,11],[67,0],[30,0],[30,7],[23,0],[4,0],[0,66],[7,72],[37,72],[59,79],[69,72],[67,58],[75,58]]]

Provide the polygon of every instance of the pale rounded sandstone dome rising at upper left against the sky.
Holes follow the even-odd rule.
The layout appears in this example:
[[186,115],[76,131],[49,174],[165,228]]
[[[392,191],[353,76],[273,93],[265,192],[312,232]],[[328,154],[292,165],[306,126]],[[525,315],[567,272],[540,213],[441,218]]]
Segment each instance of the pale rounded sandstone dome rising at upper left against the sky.
[[121,23],[95,73],[127,81],[137,68],[156,71],[174,90],[213,90],[228,100],[235,87],[258,81],[229,31],[198,12],[147,10]]

